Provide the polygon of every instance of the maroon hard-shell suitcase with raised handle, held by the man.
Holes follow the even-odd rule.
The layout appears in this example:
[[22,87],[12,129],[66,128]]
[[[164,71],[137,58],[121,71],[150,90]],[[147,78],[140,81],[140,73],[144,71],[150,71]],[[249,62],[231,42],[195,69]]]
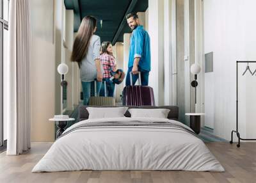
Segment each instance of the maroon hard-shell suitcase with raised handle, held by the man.
[[139,72],[139,85],[132,86],[132,73],[130,72],[131,86],[125,86],[123,90],[123,106],[155,106],[153,88],[141,86]]

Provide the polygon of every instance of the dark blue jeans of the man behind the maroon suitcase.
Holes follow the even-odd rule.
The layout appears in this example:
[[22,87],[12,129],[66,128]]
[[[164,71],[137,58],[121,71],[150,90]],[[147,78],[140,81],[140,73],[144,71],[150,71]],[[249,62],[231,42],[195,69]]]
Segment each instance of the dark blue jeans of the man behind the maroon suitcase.
[[[131,81],[130,81],[130,72],[132,71],[132,67],[128,68],[127,74],[126,74],[126,81],[125,81],[125,86],[130,86]],[[149,72],[147,70],[142,70],[138,68],[138,71],[141,74],[141,85],[142,86],[148,86],[148,75]],[[139,74],[134,75],[132,74],[132,85],[134,85],[139,77]]]

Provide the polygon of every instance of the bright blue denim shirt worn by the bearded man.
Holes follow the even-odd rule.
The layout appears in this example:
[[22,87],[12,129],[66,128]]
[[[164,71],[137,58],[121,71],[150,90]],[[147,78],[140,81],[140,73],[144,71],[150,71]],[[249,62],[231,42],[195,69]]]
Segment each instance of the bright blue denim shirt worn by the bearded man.
[[150,38],[143,26],[138,26],[132,31],[128,67],[133,67],[134,58],[140,58],[139,67],[150,71]]

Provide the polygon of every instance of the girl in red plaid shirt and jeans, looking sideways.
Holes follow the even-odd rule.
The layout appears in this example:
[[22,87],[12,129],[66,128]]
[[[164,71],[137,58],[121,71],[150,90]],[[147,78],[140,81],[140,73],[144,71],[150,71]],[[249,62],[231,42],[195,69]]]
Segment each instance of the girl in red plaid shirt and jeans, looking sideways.
[[[101,54],[100,54],[100,62],[103,68],[103,81],[106,81],[106,91],[108,97],[113,97],[115,90],[115,83],[110,80],[111,71],[116,72],[116,61],[113,56],[112,44],[111,42],[103,42],[101,45]],[[105,84],[101,85],[100,96],[105,96]]]

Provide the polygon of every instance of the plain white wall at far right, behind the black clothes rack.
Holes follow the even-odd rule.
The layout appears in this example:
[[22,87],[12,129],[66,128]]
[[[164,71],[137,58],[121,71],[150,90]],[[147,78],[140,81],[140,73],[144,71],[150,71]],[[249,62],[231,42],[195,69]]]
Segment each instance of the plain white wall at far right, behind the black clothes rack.
[[[255,7],[254,0],[204,1],[204,49],[214,54],[214,134],[225,139],[236,129],[236,60],[256,60]],[[242,138],[256,138],[256,78],[242,77],[243,69],[245,65],[239,70],[239,131]]]

